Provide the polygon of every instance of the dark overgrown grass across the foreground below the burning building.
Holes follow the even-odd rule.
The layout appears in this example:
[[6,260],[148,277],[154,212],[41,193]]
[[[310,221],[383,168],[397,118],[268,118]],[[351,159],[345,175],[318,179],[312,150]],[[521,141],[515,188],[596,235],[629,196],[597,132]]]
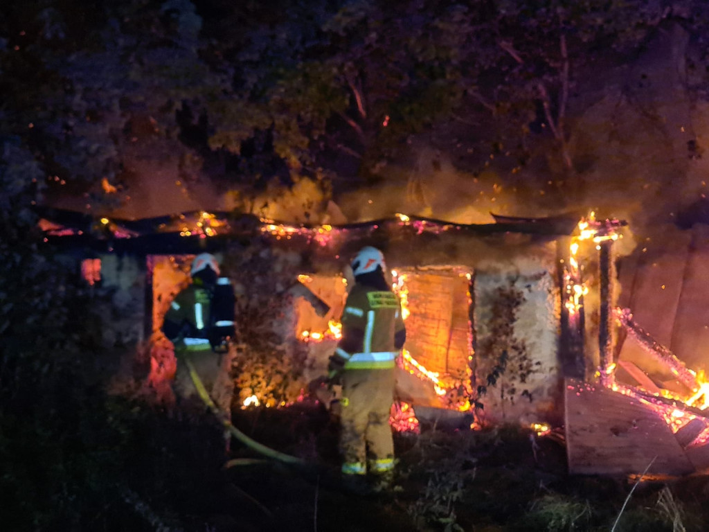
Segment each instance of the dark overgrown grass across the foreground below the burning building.
[[608,532],[616,520],[616,532],[704,532],[709,522],[706,477],[571,476],[561,443],[538,438],[533,449],[515,427],[396,434],[401,491],[372,497],[340,483],[337,431],[323,409],[234,414],[259,442],[318,456],[316,472],[262,460],[237,440],[225,455],[211,421],[76,389],[32,419],[0,411],[0,494],[13,502],[0,505],[0,519],[16,530],[213,532],[281,532],[284,523],[295,532]]

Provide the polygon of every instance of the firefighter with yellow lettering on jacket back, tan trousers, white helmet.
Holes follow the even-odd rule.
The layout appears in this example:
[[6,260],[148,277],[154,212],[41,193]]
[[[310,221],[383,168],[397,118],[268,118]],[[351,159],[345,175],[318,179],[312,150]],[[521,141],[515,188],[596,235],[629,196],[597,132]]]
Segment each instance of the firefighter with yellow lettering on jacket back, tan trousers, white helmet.
[[342,380],[342,473],[391,477],[394,359],[406,341],[406,328],[401,303],[384,278],[381,251],[362,248],[352,260],[352,272],[342,338],[328,365],[328,377]]

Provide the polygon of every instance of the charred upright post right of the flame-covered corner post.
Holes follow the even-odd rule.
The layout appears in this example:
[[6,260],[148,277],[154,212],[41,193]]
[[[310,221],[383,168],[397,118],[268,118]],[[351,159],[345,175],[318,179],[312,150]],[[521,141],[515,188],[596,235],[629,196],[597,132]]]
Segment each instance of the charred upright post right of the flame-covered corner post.
[[613,240],[599,244],[599,270],[601,270],[601,320],[598,326],[598,350],[601,354],[601,384],[613,384]]

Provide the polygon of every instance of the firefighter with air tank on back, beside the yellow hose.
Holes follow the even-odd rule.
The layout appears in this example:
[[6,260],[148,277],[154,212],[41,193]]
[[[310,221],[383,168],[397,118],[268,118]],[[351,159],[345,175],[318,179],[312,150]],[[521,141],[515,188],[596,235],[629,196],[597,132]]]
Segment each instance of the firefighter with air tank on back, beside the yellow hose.
[[184,362],[189,357],[216,404],[229,413],[233,380],[225,353],[234,335],[234,290],[228,278],[219,277],[218,262],[209,253],[194,257],[190,275],[192,283],[174,298],[162,325],[177,358],[173,390],[181,406],[202,406]]

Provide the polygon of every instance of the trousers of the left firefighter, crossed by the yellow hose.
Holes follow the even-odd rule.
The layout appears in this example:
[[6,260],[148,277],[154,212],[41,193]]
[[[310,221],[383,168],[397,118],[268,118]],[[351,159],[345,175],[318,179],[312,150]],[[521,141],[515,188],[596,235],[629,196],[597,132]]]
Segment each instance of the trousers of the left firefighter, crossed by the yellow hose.
[[223,412],[230,415],[234,393],[234,382],[230,375],[232,350],[230,349],[228,353],[215,353],[208,344],[190,348],[181,346],[175,349],[177,371],[172,389],[177,400],[180,406],[204,409],[203,401],[197,394],[184,360],[188,356],[213,401]]

